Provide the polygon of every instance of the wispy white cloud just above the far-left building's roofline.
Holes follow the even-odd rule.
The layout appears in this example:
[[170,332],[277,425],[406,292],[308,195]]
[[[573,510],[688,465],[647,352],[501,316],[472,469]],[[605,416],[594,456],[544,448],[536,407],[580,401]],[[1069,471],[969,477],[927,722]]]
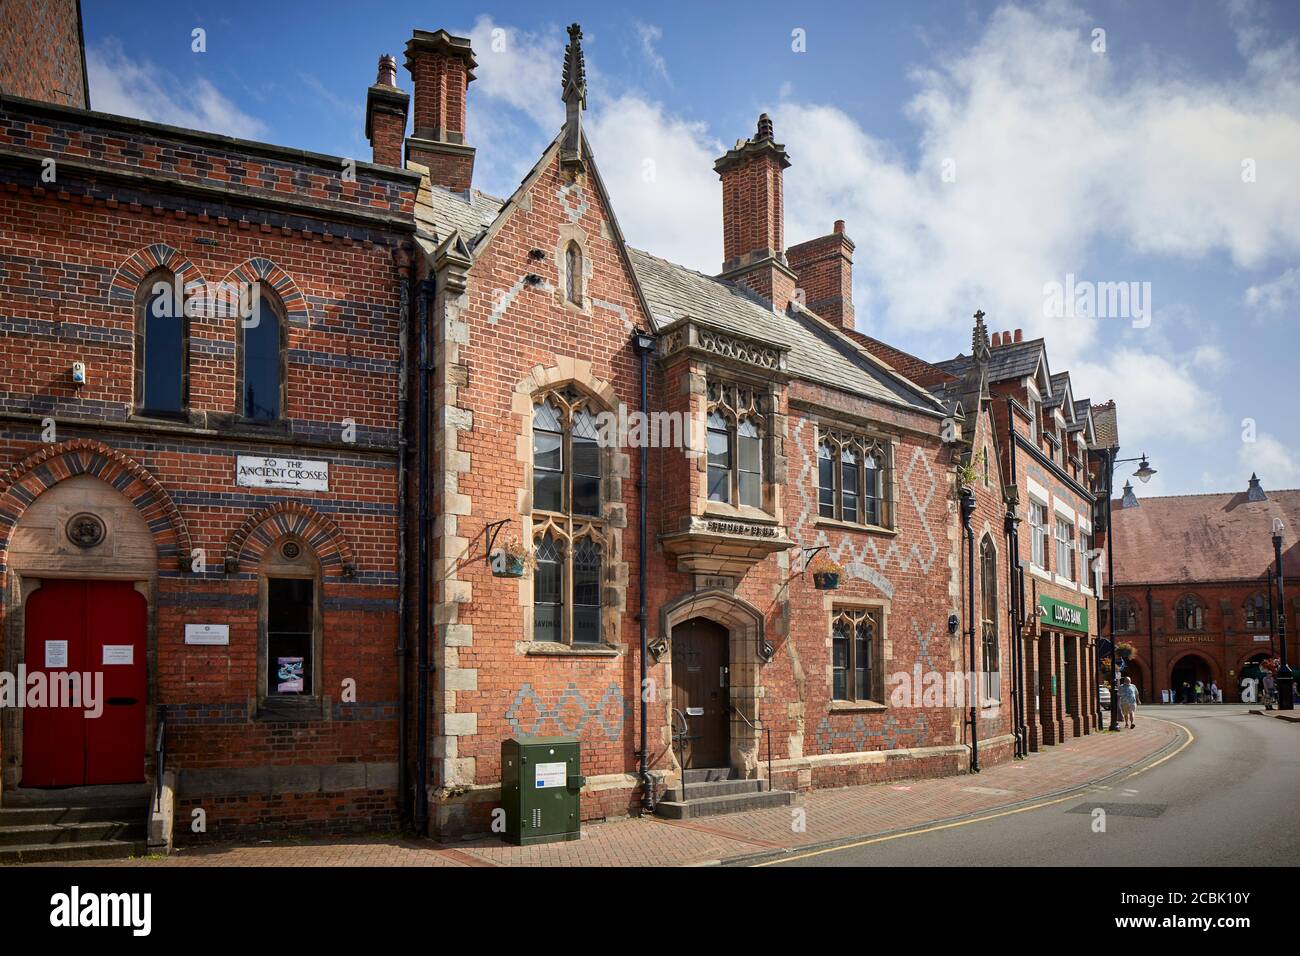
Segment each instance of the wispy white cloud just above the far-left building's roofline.
[[91,105],[100,112],[243,139],[266,135],[260,120],[239,109],[208,79],[182,82],[150,60],[127,57],[117,40],[87,48],[86,72]]

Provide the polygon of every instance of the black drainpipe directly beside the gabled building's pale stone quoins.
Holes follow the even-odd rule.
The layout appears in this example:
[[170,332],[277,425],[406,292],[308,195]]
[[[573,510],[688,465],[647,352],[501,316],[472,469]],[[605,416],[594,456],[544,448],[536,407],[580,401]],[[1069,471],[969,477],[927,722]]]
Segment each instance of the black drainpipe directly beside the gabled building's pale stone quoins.
[[417,654],[416,654],[416,792],[415,830],[420,835],[429,826],[429,372],[433,368],[429,346],[429,311],[433,304],[433,278],[419,285],[420,321],[420,425],[417,450],[420,467],[420,568],[416,585]]

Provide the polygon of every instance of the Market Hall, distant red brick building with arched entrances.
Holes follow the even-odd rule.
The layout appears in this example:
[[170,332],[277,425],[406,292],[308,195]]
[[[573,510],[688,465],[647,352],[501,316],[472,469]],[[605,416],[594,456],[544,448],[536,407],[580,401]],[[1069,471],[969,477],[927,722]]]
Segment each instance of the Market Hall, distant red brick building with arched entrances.
[[[1252,665],[1280,656],[1273,522],[1283,523],[1282,570],[1287,623],[1297,619],[1300,492],[1266,492],[1252,475],[1240,492],[1113,502],[1115,631],[1134,645],[1126,674],[1141,698],[1214,682],[1225,701],[1242,700]],[[1104,622],[1109,626],[1109,620]],[[1296,643],[1288,627],[1287,661]]]

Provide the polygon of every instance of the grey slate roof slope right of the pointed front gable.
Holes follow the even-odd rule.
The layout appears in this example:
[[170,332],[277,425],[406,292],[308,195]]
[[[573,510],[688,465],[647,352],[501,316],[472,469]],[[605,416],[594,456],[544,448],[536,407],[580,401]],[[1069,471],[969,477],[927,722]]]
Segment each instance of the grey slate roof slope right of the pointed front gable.
[[690,316],[724,332],[789,349],[792,375],[924,411],[939,406],[920,388],[874,368],[859,347],[809,312],[783,313],[745,286],[628,247],[656,328]]

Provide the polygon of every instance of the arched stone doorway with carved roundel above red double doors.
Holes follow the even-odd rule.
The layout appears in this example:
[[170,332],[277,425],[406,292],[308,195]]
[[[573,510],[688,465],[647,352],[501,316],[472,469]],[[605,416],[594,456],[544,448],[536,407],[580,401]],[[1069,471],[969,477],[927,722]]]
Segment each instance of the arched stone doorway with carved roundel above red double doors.
[[[51,722],[44,710],[32,711],[35,719],[26,722],[27,708],[5,708],[3,787],[143,780],[155,697],[156,531],[112,484],[75,473],[31,499],[8,544],[4,669],[17,674],[22,667],[29,678],[43,674],[48,688],[70,672],[90,675],[79,702],[88,714],[99,697],[100,715],[87,737],[91,722],[79,714],[77,721],[65,714]],[[100,735],[109,726],[105,743]],[[68,744],[69,734],[75,747]],[[44,745],[43,737],[51,735],[58,747]],[[104,770],[98,757],[105,748],[122,756],[125,770]],[[61,760],[58,766],[49,761],[27,766],[27,750],[57,752]]]

